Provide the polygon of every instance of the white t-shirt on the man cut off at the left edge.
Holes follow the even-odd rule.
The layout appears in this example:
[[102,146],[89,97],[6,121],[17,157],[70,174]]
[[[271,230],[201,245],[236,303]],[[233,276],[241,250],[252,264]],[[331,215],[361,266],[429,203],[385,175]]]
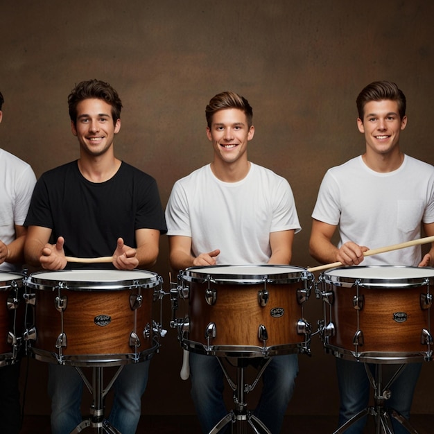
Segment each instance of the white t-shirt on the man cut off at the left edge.
[[[15,225],[22,226],[26,220],[35,183],[29,164],[0,149],[0,240],[6,245],[15,239]],[[19,267],[3,262],[0,270]]]

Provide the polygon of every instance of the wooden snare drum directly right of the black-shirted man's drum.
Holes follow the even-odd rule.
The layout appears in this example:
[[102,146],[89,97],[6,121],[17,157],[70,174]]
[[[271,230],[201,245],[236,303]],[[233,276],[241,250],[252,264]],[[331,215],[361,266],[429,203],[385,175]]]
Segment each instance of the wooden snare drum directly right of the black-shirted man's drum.
[[311,273],[293,266],[192,267],[179,276],[189,313],[177,321],[184,349],[213,356],[310,351],[303,304]]

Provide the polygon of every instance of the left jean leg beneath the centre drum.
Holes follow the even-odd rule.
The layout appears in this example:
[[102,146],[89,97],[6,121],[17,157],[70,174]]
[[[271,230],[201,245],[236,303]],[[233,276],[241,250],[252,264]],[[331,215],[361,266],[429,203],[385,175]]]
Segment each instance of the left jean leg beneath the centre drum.
[[223,401],[223,370],[213,356],[190,353],[191,397],[203,433],[227,415]]

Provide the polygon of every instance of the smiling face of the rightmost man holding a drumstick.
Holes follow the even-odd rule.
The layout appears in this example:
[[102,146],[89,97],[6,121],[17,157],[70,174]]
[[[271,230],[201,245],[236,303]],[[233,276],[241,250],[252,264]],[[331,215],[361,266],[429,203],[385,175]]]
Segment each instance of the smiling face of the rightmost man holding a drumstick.
[[366,103],[363,120],[357,119],[358,130],[365,134],[367,154],[399,153],[399,134],[406,125],[407,116],[401,119],[398,103],[392,100]]

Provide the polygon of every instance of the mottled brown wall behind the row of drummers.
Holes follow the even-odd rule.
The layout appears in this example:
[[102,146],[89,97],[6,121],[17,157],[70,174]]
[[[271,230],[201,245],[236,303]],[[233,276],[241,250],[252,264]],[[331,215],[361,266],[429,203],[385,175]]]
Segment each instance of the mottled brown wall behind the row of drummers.
[[[303,230],[293,263],[309,257],[311,211],[324,172],[363,150],[355,99],[373,80],[408,98],[401,144],[431,164],[434,70],[431,1],[130,0],[1,1],[0,144],[39,176],[78,157],[67,95],[75,83],[111,83],[124,104],[116,152],[157,178],[164,206],[173,183],[209,162],[205,105],[234,90],[254,108],[250,159],[288,179]],[[349,180],[351,182],[351,180]],[[370,246],[371,248],[380,246]],[[167,239],[155,270],[168,290]],[[168,297],[166,297],[167,299]],[[306,317],[316,329],[315,297]],[[164,300],[164,327],[170,304]],[[193,413],[182,353],[169,329],[151,363],[143,413]],[[333,357],[318,336],[300,356],[290,414],[336,414]],[[24,364],[24,368],[26,365]],[[26,413],[49,413],[46,365],[30,361]],[[433,413],[434,366],[426,363],[414,413]],[[324,398],[324,397],[327,397]]]

